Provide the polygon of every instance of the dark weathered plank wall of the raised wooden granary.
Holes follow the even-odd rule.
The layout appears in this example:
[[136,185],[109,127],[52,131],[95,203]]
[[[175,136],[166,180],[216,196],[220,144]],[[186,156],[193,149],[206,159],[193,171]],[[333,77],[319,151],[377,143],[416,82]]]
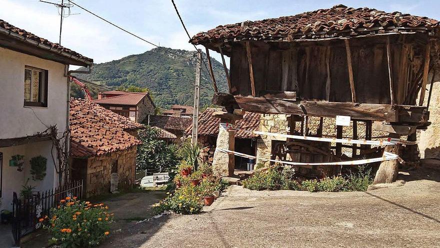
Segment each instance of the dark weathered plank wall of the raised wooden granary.
[[[296,91],[300,100],[351,102],[343,41],[287,48],[275,43],[250,42],[250,45],[256,96],[261,96],[262,91]],[[394,42],[391,50],[394,101],[403,104],[415,74],[408,62],[413,46]],[[350,51],[356,102],[390,104],[386,44],[350,43]],[[250,96],[243,44],[233,44],[230,65],[232,88],[237,89],[232,94]]]

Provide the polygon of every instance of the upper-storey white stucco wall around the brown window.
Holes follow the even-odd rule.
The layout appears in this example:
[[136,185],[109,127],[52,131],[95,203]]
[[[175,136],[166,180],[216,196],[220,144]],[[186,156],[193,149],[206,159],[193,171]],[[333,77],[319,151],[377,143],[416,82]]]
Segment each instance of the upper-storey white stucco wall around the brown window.
[[[48,71],[47,107],[23,107],[24,66]],[[0,48],[0,139],[24,137],[56,124],[65,130],[67,79],[63,64]]]

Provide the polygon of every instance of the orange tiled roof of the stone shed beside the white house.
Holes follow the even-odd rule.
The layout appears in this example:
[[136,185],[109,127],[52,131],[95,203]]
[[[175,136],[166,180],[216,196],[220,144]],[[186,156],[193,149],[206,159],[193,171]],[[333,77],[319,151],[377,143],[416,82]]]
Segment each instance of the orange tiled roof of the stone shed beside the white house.
[[140,144],[125,130],[142,126],[95,103],[70,99],[70,152],[73,157],[101,156]]

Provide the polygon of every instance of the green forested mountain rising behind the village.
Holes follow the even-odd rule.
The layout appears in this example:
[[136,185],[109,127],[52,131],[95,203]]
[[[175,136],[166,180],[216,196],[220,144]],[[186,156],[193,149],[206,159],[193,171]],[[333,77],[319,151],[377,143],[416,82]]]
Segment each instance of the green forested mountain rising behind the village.
[[[164,51],[167,50],[167,51]],[[156,106],[169,108],[172,104],[193,104],[195,80],[195,51],[154,48],[143,54],[130,55],[119,60],[93,65],[90,74],[72,74],[80,79],[110,88],[138,86],[148,88]],[[182,58],[183,57],[183,58]],[[190,58],[188,61],[185,58]],[[206,54],[202,55],[206,65]],[[227,83],[223,65],[211,58],[212,70],[220,92],[226,92]],[[84,70],[79,68],[78,70]],[[200,107],[210,104],[213,90],[209,72],[201,64]],[[95,99],[103,87],[87,84]],[[72,97],[84,98],[79,87],[72,85]]]

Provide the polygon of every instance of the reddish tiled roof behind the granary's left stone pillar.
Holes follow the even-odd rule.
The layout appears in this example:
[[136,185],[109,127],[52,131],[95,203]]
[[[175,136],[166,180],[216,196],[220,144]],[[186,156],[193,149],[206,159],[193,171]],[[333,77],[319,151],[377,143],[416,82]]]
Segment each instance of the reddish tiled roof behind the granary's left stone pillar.
[[[212,116],[212,114],[216,111],[221,111],[219,108],[207,108],[205,111],[200,113],[198,116],[198,135],[218,135],[218,128],[220,125],[220,119]],[[236,129],[241,129],[235,131],[235,138],[241,139],[252,139],[258,137],[258,134],[245,132],[246,131],[258,131],[260,125],[260,114],[245,112],[243,119],[235,121],[235,125],[233,125]],[[192,125],[189,126],[185,133],[190,134],[192,130]]]

